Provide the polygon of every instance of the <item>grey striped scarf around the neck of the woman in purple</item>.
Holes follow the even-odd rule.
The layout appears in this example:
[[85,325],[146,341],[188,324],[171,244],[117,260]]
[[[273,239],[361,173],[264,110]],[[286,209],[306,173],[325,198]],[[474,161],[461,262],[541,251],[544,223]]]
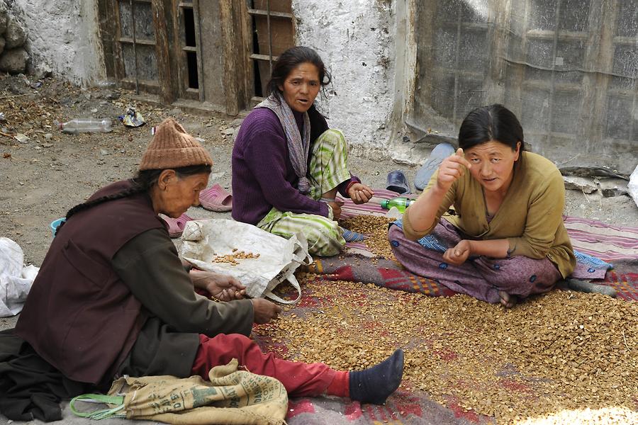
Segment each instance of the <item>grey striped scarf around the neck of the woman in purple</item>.
[[277,115],[281,127],[286,134],[288,142],[288,152],[295,174],[299,178],[298,190],[307,195],[310,192],[310,181],[308,181],[308,151],[310,150],[310,118],[308,113],[303,113],[303,139],[299,134],[299,128],[290,106],[279,93],[273,93],[264,99],[255,108],[268,108]]

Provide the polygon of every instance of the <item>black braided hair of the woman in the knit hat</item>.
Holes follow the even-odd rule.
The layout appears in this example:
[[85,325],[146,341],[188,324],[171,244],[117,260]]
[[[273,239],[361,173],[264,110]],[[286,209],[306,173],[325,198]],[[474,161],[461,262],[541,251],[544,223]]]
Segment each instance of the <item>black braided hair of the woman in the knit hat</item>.
[[[175,174],[179,178],[186,176],[194,176],[195,174],[202,173],[210,173],[211,166],[210,165],[191,165],[191,166],[183,166],[180,168],[172,169],[175,171]],[[164,170],[144,170],[138,171],[138,174],[130,179],[130,182],[133,183],[133,186],[126,189],[125,191],[121,191],[118,193],[113,193],[112,195],[101,196],[100,198],[96,198],[94,200],[89,200],[88,202],[84,202],[78,205],[75,205],[67,212],[67,216],[65,217],[65,221],[60,223],[60,226],[55,230],[55,234],[60,232],[62,226],[72,217],[72,215],[77,212],[88,210],[89,208],[93,208],[96,205],[100,205],[101,203],[108,202],[109,200],[116,200],[121,198],[127,198],[128,196],[137,195],[138,193],[147,192],[152,188],[155,183],[157,183],[157,179],[159,179],[159,174],[162,174]]]

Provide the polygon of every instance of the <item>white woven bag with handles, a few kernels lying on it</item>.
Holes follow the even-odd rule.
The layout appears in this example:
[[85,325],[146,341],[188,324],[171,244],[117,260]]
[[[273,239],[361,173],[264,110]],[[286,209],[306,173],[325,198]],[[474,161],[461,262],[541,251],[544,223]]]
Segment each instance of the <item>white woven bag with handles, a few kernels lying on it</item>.
[[[189,221],[182,239],[181,257],[196,268],[233,276],[246,286],[250,297],[269,297],[284,304],[293,304],[301,298],[301,288],[293,273],[301,264],[313,261],[303,234],[284,239],[233,220]],[[238,259],[235,256],[240,251],[259,257]],[[215,261],[223,256],[233,256],[237,263]],[[296,288],[296,300],[284,300],[272,293],[284,280]]]

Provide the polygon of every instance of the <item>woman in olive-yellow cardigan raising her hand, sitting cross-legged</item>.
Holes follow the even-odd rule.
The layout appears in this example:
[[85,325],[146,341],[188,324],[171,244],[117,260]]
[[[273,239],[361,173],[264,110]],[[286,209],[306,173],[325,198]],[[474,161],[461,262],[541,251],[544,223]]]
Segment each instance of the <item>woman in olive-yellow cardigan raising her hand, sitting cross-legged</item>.
[[456,154],[443,160],[388,239],[413,273],[513,307],[573,271],[564,205],[560,171],[525,152],[515,115],[484,106],[461,123]]

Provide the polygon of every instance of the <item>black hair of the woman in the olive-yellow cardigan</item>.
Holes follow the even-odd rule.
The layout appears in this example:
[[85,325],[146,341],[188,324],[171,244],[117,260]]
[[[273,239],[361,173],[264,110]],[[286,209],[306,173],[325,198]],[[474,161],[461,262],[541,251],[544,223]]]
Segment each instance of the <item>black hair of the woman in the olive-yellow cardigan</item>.
[[[516,150],[516,144],[520,142],[520,152],[525,150],[525,140],[518,118],[498,103],[474,109],[467,114],[459,129],[459,147],[463,150],[490,141],[508,145],[512,150]],[[522,155],[519,158],[522,158]]]

